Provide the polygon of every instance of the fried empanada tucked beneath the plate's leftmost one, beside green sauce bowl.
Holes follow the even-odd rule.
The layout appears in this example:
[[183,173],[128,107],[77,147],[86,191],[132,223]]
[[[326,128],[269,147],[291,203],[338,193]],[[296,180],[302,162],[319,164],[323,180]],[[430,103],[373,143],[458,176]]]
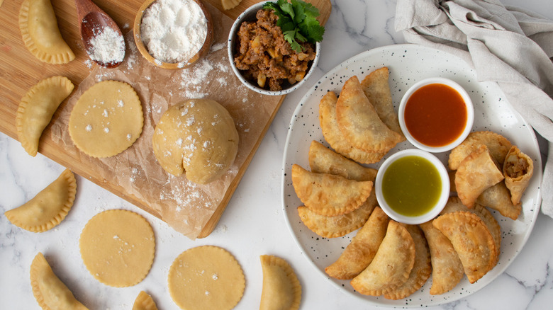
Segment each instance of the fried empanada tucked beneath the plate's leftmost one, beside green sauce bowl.
[[336,215],[335,217],[325,217],[316,214],[308,207],[298,207],[298,214],[301,222],[315,234],[324,238],[336,238],[350,234],[350,232],[363,226],[371,215],[374,207],[378,205],[374,188],[372,195],[363,204],[352,212]]

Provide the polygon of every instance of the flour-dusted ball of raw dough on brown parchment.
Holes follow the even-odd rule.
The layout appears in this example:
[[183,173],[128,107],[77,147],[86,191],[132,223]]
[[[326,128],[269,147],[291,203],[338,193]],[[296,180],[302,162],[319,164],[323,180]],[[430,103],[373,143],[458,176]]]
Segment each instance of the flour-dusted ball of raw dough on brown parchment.
[[238,152],[238,131],[233,117],[218,102],[191,99],[163,113],[153,136],[154,154],[165,171],[186,172],[194,183],[219,178]]

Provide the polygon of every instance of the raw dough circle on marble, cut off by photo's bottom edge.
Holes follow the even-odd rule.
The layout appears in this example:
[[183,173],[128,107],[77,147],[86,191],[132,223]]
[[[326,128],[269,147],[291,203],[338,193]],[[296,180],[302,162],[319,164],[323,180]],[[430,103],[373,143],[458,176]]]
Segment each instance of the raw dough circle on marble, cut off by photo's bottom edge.
[[167,282],[173,301],[184,310],[233,309],[245,288],[240,264],[217,246],[181,253],[169,269]]

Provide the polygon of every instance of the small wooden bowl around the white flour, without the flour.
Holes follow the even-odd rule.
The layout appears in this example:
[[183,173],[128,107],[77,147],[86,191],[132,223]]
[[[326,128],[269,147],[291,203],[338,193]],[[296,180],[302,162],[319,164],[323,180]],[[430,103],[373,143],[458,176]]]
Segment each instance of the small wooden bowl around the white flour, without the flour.
[[135,17],[135,25],[133,29],[133,34],[135,36],[135,44],[136,47],[138,47],[138,50],[140,51],[140,54],[143,55],[145,59],[147,59],[148,62],[151,62],[152,64],[155,64],[157,67],[162,67],[164,69],[184,69],[191,67],[194,62],[197,62],[201,57],[205,56],[209,49],[211,48],[211,43],[213,42],[213,21],[211,20],[211,14],[209,13],[206,6],[203,4],[201,0],[193,0],[198,4],[201,8],[201,11],[203,11],[203,15],[206,16],[206,23],[207,23],[207,33],[206,33],[206,40],[203,41],[203,45],[201,49],[188,61],[186,62],[162,62],[158,59],[155,59],[150,52],[148,52],[147,47],[144,45],[144,42],[142,41],[142,38],[140,37],[140,24],[142,23],[142,17],[144,15],[144,12],[147,8],[150,7],[155,1],[157,0],[146,0],[140,6],[138,9],[138,13],[136,13]]

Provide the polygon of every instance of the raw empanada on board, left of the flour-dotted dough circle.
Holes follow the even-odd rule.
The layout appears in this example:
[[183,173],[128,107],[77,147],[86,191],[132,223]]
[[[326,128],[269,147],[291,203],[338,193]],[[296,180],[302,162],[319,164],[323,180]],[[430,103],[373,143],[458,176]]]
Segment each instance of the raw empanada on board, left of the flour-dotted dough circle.
[[21,98],[16,114],[16,131],[23,149],[30,156],[36,156],[40,135],[73,88],[74,85],[65,76],[52,76],[39,81]]

